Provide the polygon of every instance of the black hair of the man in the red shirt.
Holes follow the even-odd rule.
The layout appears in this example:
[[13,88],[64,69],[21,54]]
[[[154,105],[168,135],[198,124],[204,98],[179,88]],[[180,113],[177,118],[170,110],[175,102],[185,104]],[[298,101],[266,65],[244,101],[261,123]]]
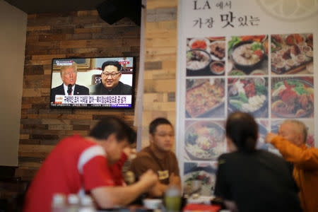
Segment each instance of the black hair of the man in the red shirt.
[[136,141],[136,132],[134,129],[122,121],[122,119],[112,116],[100,120],[90,130],[89,136],[95,139],[107,139],[110,134],[115,134],[117,141],[127,139],[130,144]]

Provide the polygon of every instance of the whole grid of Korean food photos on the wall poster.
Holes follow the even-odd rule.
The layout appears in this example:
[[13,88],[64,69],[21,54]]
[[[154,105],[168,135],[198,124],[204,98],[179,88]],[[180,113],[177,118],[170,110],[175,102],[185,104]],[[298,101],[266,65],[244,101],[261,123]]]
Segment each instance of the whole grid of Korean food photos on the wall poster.
[[[231,112],[249,112],[257,119],[257,148],[271,151],[264,139],[268,131],[278,132],[283,119],[304,122],[307,145],[314,146],[312,40],[312,33],[187,38],[185,194],[194,192],[193,181],[203,175],[210,177],[213,190],[211,167],[228,151],[225,119]],[[200,163],[209,163],[211,172]]]

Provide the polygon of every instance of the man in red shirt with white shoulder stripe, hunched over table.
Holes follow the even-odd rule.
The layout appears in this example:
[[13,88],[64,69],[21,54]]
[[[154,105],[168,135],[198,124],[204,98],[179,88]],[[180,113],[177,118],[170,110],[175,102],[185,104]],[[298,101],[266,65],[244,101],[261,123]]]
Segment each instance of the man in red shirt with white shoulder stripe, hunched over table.
[[[123,187],[114,172],[136,133],[117,117],[96,124],[89,136],[61,140],[47,156],[25,196],[25,212],[50,211],[54,194],[90,194],[99,208],[124,206],[148,192],[158,181],[151,170]],[[121,169],[122,167],[120,167]]]

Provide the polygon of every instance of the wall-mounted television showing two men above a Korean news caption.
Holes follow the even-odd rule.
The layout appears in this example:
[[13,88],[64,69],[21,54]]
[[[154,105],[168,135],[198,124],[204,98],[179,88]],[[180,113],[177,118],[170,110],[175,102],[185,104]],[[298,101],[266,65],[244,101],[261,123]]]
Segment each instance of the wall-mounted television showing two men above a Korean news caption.
[[50,107],[134,107],[134,57],[52,59]]

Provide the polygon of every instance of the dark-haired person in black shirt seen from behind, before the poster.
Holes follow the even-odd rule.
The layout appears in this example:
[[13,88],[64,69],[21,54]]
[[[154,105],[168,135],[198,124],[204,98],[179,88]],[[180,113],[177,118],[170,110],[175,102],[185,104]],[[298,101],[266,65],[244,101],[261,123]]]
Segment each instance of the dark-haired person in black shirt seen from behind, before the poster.
[[230,114],[225,136],[230,153],[218,158],[214,194],[230,211],[302,211],[285,160],[255,148],[258,126],[251,114]]

